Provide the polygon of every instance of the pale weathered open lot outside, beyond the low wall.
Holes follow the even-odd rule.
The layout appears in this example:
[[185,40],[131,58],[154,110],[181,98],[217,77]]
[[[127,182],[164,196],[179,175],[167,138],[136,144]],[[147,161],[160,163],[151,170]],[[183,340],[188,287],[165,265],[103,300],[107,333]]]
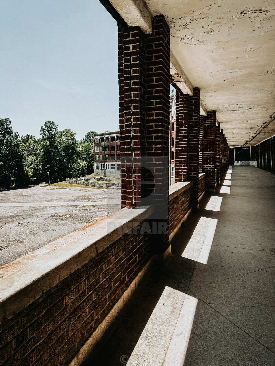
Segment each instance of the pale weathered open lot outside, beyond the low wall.
[[[0,203],[68,202],[73,206],[1,206],[0,266],[120,209],[120,191],[82,187],[33,187],[0,192]],[[85,205],[83,206],[83,202]],[[102,202],[102,203],[100,203]]]

